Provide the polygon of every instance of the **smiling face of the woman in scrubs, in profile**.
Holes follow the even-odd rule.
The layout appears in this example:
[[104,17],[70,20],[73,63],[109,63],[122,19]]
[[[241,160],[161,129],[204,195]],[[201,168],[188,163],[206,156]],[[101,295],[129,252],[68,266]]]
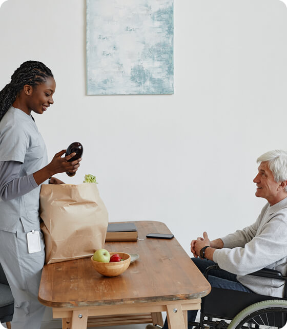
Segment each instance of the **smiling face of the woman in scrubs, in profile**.
[[31,111],[43,114],[47,108],[54,103],[53,94],[56,89],[54,78],[50,77],[45,83],[32,87],[31,93],[27,99],[29,112]]

